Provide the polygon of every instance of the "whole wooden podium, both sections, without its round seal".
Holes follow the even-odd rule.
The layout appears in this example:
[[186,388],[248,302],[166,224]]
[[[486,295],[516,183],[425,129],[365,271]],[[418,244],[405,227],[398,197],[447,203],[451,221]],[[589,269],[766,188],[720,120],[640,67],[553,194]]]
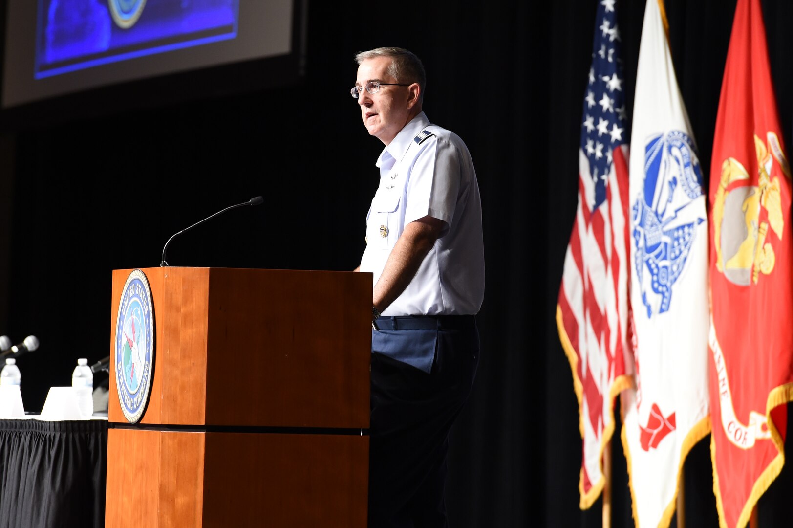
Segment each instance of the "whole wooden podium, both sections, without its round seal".
[[129,424],[113,343],[105,526],[366,526],[372,276],[146,268],[155,362]]

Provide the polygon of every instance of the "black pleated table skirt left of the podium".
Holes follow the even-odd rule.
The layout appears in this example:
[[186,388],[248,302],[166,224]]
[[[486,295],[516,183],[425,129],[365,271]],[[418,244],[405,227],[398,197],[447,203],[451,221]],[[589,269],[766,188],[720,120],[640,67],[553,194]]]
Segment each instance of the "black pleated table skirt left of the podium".
[[105,526],[107,422],[0,420],[0,528]]

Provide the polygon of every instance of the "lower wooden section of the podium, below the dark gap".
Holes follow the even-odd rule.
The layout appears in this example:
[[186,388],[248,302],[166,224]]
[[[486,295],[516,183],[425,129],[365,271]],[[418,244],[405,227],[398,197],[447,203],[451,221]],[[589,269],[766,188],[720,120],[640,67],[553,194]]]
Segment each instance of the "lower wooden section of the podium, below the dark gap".
[[366,436],[111,429],[108,448],[105,526],[366,526]]

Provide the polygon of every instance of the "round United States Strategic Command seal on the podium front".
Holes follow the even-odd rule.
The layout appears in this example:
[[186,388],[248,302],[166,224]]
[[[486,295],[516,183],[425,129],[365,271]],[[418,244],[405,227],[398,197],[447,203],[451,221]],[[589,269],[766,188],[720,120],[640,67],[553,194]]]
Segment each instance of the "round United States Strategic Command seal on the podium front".
[[140,269],[132,270],[121,291],[116,318],[116,387],[130,423],[143,417],[154,368],[154,317],[151,289]]

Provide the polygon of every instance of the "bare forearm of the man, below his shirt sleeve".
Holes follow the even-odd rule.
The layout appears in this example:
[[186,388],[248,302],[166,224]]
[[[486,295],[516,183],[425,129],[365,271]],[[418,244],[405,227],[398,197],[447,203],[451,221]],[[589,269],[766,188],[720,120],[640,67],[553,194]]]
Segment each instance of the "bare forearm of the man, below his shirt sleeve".
[[446,222],[425,216],[404,226],[404,231],[385,262],[385,268],[374,285],[372,302],[383,311],[404,291],[419,271],[421,262],[435,245]]

